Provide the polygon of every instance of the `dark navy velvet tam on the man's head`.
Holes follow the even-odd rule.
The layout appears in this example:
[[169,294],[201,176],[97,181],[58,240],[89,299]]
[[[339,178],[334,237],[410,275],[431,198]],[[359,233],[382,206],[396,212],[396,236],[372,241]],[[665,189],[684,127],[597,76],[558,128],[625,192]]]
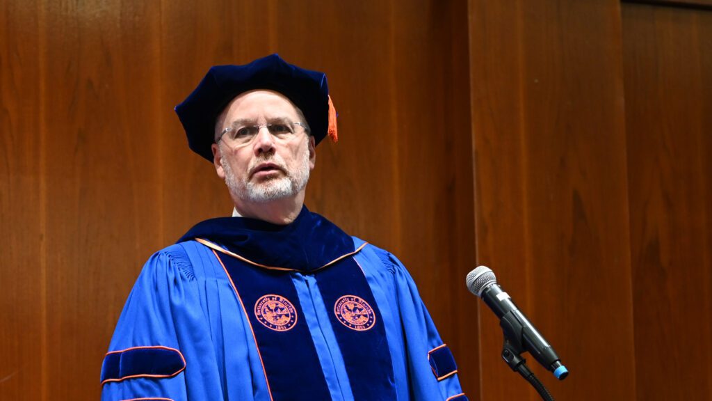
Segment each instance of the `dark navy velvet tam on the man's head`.
[[316,143],[328,132],[329,88],[326,74],[288,64],[277,54],[244,66],[213,66],[175,111],[191,150],[212,163],[215,121],[240,93],[269,89],[287,96],[307,119]]

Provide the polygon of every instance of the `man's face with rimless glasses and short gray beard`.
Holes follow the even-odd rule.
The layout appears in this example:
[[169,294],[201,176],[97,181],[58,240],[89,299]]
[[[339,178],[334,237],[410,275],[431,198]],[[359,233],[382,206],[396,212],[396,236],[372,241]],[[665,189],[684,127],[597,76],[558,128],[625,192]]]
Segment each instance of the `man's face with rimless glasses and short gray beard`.
[[218,136],[224,128],[291,124],[294,133],[273,135],[260,127],[254,136],[234,141],[225,133],[213,145],[218,176],[225,180],[236,203],[266,203],[305,191],[314,168],[314,138],[294,123],[305,123],[302,114],[286,96],[274,91],[250,91],[231,101],[216,121]]

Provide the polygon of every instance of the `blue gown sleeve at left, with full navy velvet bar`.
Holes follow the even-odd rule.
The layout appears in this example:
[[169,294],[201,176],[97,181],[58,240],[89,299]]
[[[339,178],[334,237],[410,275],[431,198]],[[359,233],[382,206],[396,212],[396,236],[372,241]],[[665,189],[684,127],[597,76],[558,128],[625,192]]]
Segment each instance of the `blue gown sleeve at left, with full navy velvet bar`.
[[144,265],[104,358],[103,401],[221,400],[197,280],[174,245]]

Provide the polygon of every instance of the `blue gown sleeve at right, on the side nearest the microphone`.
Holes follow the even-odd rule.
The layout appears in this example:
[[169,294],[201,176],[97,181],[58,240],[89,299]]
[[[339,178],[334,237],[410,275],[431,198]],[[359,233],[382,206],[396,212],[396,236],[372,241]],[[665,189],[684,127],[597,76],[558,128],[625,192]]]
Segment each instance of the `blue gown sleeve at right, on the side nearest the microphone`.
[[408,270],[387,253],[394,268],[412,400],[467,401],[449,347],[441,340]]

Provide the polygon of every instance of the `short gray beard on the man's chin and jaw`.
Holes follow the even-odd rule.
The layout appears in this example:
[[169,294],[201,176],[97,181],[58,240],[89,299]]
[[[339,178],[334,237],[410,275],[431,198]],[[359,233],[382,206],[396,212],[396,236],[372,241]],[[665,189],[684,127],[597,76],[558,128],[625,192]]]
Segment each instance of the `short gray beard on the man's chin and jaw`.
[[[273,161],[280,166],[284,166],[281,159],[275,160],[274,157],[265,158],[261,161]],[[220,163],[225,171],[225,183],[231,195],[248,202],[266,203],[271,200],[295,196],[307,186],[309,181],[309,148],[304,149],[301,163],[295,171],[287,171],[287,175],[284,177],[272,178],[259,183],[238,181],[230,164],[224,158],[220,158]]]

